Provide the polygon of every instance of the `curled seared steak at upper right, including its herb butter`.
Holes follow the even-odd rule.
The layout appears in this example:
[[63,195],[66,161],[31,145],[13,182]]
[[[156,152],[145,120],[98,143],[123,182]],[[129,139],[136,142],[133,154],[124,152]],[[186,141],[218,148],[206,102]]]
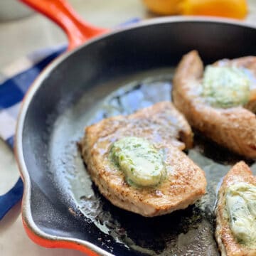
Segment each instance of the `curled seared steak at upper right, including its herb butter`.
[[188,123],[218,144],[256,157],[256,57],[221,60],[206,68],[196,50],[174,75],[174,105]]

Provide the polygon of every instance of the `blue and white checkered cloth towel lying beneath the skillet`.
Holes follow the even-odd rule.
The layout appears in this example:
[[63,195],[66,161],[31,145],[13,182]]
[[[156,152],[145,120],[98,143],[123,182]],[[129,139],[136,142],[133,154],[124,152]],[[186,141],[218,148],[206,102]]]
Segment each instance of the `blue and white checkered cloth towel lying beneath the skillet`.
[[[127,26],[137,21],[139,18],[132,18],[119,26]],[[65,48],[65,46],[58,46],[38,50],[0,71],[0,137],[9,146],[14,146],[16,118],[24,94],[43,68],[63,53]],[[1,182],[4,181],[0,181],[0,186]],[[0,220],[21,199],[22,194],[23,183],[19,178],[14,188],[0,195]]]

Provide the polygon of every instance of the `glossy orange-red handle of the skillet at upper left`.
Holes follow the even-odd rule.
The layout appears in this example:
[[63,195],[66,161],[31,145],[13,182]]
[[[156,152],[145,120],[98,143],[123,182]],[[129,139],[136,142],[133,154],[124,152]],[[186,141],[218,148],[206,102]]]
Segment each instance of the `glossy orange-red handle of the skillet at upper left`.
[[68,36],[68,50],[87,39],[107,32],[106,28],[96,28],[85,23],[65,0],[20,0],[57,23]]

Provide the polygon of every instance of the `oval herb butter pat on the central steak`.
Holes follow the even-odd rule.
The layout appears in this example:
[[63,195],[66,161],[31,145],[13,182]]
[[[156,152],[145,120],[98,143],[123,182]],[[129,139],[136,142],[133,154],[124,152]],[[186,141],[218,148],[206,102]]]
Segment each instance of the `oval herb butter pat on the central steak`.
[[146,139],[119,139],[112,144],[110,158],[124,172],[130,185],[156,186],[166,176],[163,155]]

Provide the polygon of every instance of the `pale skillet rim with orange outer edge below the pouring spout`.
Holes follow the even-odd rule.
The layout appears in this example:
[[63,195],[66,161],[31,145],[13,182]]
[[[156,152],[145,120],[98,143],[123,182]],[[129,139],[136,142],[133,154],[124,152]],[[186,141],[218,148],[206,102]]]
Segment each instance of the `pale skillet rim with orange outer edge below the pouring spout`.
[[132,24],[125,28],[117,28],[114,31],[107,32],[101,36],[97,36],[96,38],[92,38],[82,46],[75,48],[74,50],[69,51],[68,53],[63,53],[58,58],[53,60],[46,68],[43,69],[38,78],[32,83],[31,87],[29,88],[28,92],[26,93],[25,97],[23,98],[21,104],[21,110],[18,114],[18,120],[16,125],[16,138],[15,138],[15,147],[14,153],[16,156],[16,161],[18,163],[18,169],[21,173],[21,178],[24,183],[24,191],[23,191],[23,198],[22,198],[22,206],[21,206],[21,215],[23,226],[26,230],[26,233],[33,242],[36,242],[38,245],[43,247],[58,247],[58,248],[67,248],[67,249],[75,249],[80,250],[81,252],[85,252],[87,255],[95,256],[97,254],[106,255],[106,256],[114,256],[110,252],[102,250],[97,245],[94,245],[91,242],[87,242],[84,240],[76,239],[76,238],[63,238],[58,235],[49,235],[36,225],[33,221],[32,214],[31,214],[31,178],[28,174],[28,169],[26,168],[26,163],[24,160],[23,154],[23,127],[24,127],[24,120],[26,119],[26,114],[28,112],[28,107],[31,104],[31,100],[33,96],[36,94],[37,90],[41,87],[43,80],[48,77],[50,74],[60,63],[65,61],[73,53],[77,52],[81,48],[90,45],[90,43],[94,43],[96,41],[101,41],[108,36],[112,36],[116,33],[122,33],[123,31],[129,31],[132,29],[142,28],[146,26],[151,26],[160,23],[183,23],[183,22],[198,22],[198,23],[223,23],[223,24],[230,24],[235,26],[241,26],[244,28],[253,28],[256,29],[256,25],[250,22],[242,22],[237,21],[231,18],[216,18],[216,17],[209,17],[209,16],[172,16],[172,17],[161,17],[161,18],[152,18],[147,21],[139,21],[139,23]]

